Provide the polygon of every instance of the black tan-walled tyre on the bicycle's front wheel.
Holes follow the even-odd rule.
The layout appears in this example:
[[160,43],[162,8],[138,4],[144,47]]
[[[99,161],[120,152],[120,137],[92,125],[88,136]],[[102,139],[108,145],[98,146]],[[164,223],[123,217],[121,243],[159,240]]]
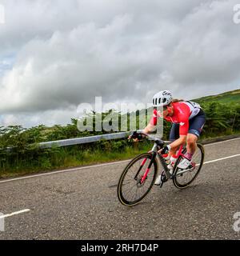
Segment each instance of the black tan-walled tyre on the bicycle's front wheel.
[[[121,174],[121,177],[119,178],[118,188],[117,188],[117,190],[118,190],[118,200],[124,206],[135,206],[135,205],[137,205],[150,192],[152,186],[154,186],[154,182],[155,182],[155,179],[157,178],[157,173],[158,173],[158,163],[156,161],[156,158],[154,159],[154,161],[153,161],[153,163],[152,163],[152,165],[150,167],[150,172],[153,172],[153,178],[152,178],[150,184],[148,184],[149,186],[147,187],[146,192],[144,194],[142,194],[139,198],[134,198],[134,201],[130,201],[130,199],[127,199],[126,196],[123,193],[123,188],[122,187],[124,186],[124,180],[126,178],[126,175],[128,173],[130,173],[130,168],[132,166],[134,166],[134,164],[136,162],[143,160],[143,158],[151,159],[152,158],[152,154],[150,154],[150,153],[143,153],[143,154],[139,154],[137,157],[132,159],[128,163],[128,165],[125,167],[125,169],[123,170],[123,172]],[[134,182],[134,177],[133,177],[132,181]],[[136,186],[138,187],[138,183],[137,183],[138,181],[135,181],[135,182],[136,182]],[[142,186],[144,186],[145,184],[146,184],[146,182],[144,182],[144,184]]]

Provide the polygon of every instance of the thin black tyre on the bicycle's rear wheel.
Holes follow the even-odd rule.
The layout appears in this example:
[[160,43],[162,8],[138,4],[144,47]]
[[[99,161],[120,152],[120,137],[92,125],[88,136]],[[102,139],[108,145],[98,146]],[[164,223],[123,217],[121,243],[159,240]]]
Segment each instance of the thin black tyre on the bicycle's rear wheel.
[[[182,157],[180,156],[178,158],[178,160],[176,161],[175,165],[174,165],[174,177],[173,177],[173,182],[174,182],[174,186],[176,186],[178,189],[184,189],[186,188],[187,186],[189,186],[192,182],[194,182],[194,179],[197,178],[200,170],[202,169],[202,164],[203,164],[203,161],[204,161],[204,147],[201,145],[201,144],[197,144],[198,146],[198,149],[200,150],[201,152],[201,160],[200,160],[200,163],[199,163],[199,167],[198,167],[198,170],[196,171],[196,174],[194,174],[194,176],[190,179],[190,181],[186,182],[186,183],[180,183],[178,181],[178,163],[182,160]],[[186,149],[182,151],[182,153],[184,154],[186,152]]]

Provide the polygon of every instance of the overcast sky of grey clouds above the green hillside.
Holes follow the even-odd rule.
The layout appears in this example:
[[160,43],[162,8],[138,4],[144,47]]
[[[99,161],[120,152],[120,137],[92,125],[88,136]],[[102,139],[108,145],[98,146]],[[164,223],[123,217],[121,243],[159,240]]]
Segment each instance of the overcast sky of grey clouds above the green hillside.
[[158,90],[240,88],[238,2],[0,0],[0,126],[70,123],[95,96],[147,103]]

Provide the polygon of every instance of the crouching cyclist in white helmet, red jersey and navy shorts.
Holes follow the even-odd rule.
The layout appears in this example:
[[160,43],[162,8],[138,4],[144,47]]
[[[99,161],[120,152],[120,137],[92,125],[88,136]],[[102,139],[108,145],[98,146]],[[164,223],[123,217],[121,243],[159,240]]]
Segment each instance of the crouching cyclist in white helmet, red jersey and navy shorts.
[[[166,121],[172,122],[170,130],[170,144],[159,150],[161,154],[168,154],[166,159],[176,154],[178,147],[186,145],[185,158],[178,164],[178,168],[186,169],[190,166],[191,158],[197,148],[197,141],[202,132],[202,127],[206,122],[206,115],[201,106],[196,102],[173,99],[169,90],[162,90],[153,97],[154,113],[150,123],[142,130],[150,134],[155,130],[158,117],[163,117]],[[163,107],[161,113],[158,107]],[[159,152],[158,151],[158,152]],[[156,179],[155,185],[161,182],[161,175]]]

